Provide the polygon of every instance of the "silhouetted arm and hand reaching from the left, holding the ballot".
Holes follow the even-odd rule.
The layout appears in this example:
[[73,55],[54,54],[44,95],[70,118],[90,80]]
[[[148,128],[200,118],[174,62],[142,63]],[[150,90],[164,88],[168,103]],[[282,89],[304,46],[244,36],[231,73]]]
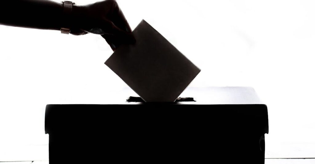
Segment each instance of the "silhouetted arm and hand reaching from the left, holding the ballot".
[[[72,0],[75,2],[75,0]],[[51,0],[6,0],[0,5],[0,25],[45,30],[60,30],[63,3]],[[115,0],[105,0],[89,5],[73,5],[70,33],[99,34],[111,48],[124,43],[134,43],[135,38],[123,12]]]

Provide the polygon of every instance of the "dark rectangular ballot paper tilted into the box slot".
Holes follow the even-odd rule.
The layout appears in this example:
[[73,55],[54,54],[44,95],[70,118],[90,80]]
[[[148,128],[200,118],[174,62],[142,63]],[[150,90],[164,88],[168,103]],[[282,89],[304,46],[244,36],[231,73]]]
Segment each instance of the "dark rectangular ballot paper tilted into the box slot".
[[145,20],[132,32],[136,43],[121,45],[106,60],[146,102],[174,102],[200,69]]

